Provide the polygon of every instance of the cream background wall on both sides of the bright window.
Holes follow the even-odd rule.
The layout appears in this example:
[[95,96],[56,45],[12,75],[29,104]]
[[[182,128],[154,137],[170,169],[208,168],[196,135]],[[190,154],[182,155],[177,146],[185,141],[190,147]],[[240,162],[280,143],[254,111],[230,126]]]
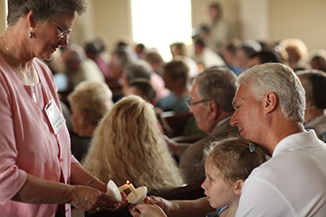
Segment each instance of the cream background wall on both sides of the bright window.
[[[71,41],[83,44],[94,37],[101,37],[108,45],[114,44],[120,38],[132,41],[130,1],[132,0],[89,0],[88,12],[78,17],[73,26]],[[137,3],[142,0],[133,1]],[[192,26],[207,21],[206,6],[212,0],[189,1],[191,1]],[[307,44],[310,51],[317,48],[326,49],[326,40],[324,40],[326,28],[323,27],[326,20],[324,0],[219,0],[218,2],[223,7],[225,18],[231,21],[235,36],[241,40],[277,42],[286,37],[298,37]],[[168,11],[166,14],[169,15]],[[0,34],[4,31],[5,0],[0,0]]]

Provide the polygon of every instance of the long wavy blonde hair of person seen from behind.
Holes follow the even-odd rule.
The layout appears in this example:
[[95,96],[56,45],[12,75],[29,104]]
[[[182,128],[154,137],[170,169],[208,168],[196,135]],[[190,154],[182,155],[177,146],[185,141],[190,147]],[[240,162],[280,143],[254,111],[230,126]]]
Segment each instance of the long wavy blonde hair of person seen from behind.
[[101,120],[83,166],[103,182],[129,180],[149,192],[183,184],[153,107],[133,95],[120,99]]

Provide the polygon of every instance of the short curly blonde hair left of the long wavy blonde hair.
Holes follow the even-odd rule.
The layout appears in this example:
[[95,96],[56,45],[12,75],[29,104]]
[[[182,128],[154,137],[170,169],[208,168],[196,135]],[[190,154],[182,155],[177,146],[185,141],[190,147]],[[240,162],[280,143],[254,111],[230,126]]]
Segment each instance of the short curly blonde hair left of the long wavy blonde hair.
[[86,123],[94,127],[113,106],[108,85],[96,81],[80,82],[69,94],[68,100],[74,108],[86,113]]

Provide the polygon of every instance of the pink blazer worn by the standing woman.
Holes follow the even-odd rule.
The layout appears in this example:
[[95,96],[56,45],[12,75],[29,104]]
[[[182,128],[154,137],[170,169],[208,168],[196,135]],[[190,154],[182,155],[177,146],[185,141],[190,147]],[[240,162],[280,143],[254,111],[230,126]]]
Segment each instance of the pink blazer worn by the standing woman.
[[[70,183],[71,155],[68,130],[54,135],[44,106],[53,99],[60,108],[51,71],[33,61],[40,83],[24,87],[0,56],[0,213],[1,216],[54,216],[56,204],[18,203],[11,200],[25,183],[26,174]],[[36,94],[36,103],[31,92]],[[61,109],[61,108],[60,108]],[[37,191],[35,189],[35,191]],[[40,192],[42,193],[42,192]],[[66,204],[66,216],[71,216]]]

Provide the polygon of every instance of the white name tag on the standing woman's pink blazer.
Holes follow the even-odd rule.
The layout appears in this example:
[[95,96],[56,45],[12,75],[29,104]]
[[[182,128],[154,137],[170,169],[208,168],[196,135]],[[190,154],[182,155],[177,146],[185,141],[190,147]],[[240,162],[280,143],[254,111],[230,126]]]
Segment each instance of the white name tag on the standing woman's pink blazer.
[[53,99],[45,106],[44,110],[53,128],[54,134],[58,134],[59,129],[65,124],[65,119]]

